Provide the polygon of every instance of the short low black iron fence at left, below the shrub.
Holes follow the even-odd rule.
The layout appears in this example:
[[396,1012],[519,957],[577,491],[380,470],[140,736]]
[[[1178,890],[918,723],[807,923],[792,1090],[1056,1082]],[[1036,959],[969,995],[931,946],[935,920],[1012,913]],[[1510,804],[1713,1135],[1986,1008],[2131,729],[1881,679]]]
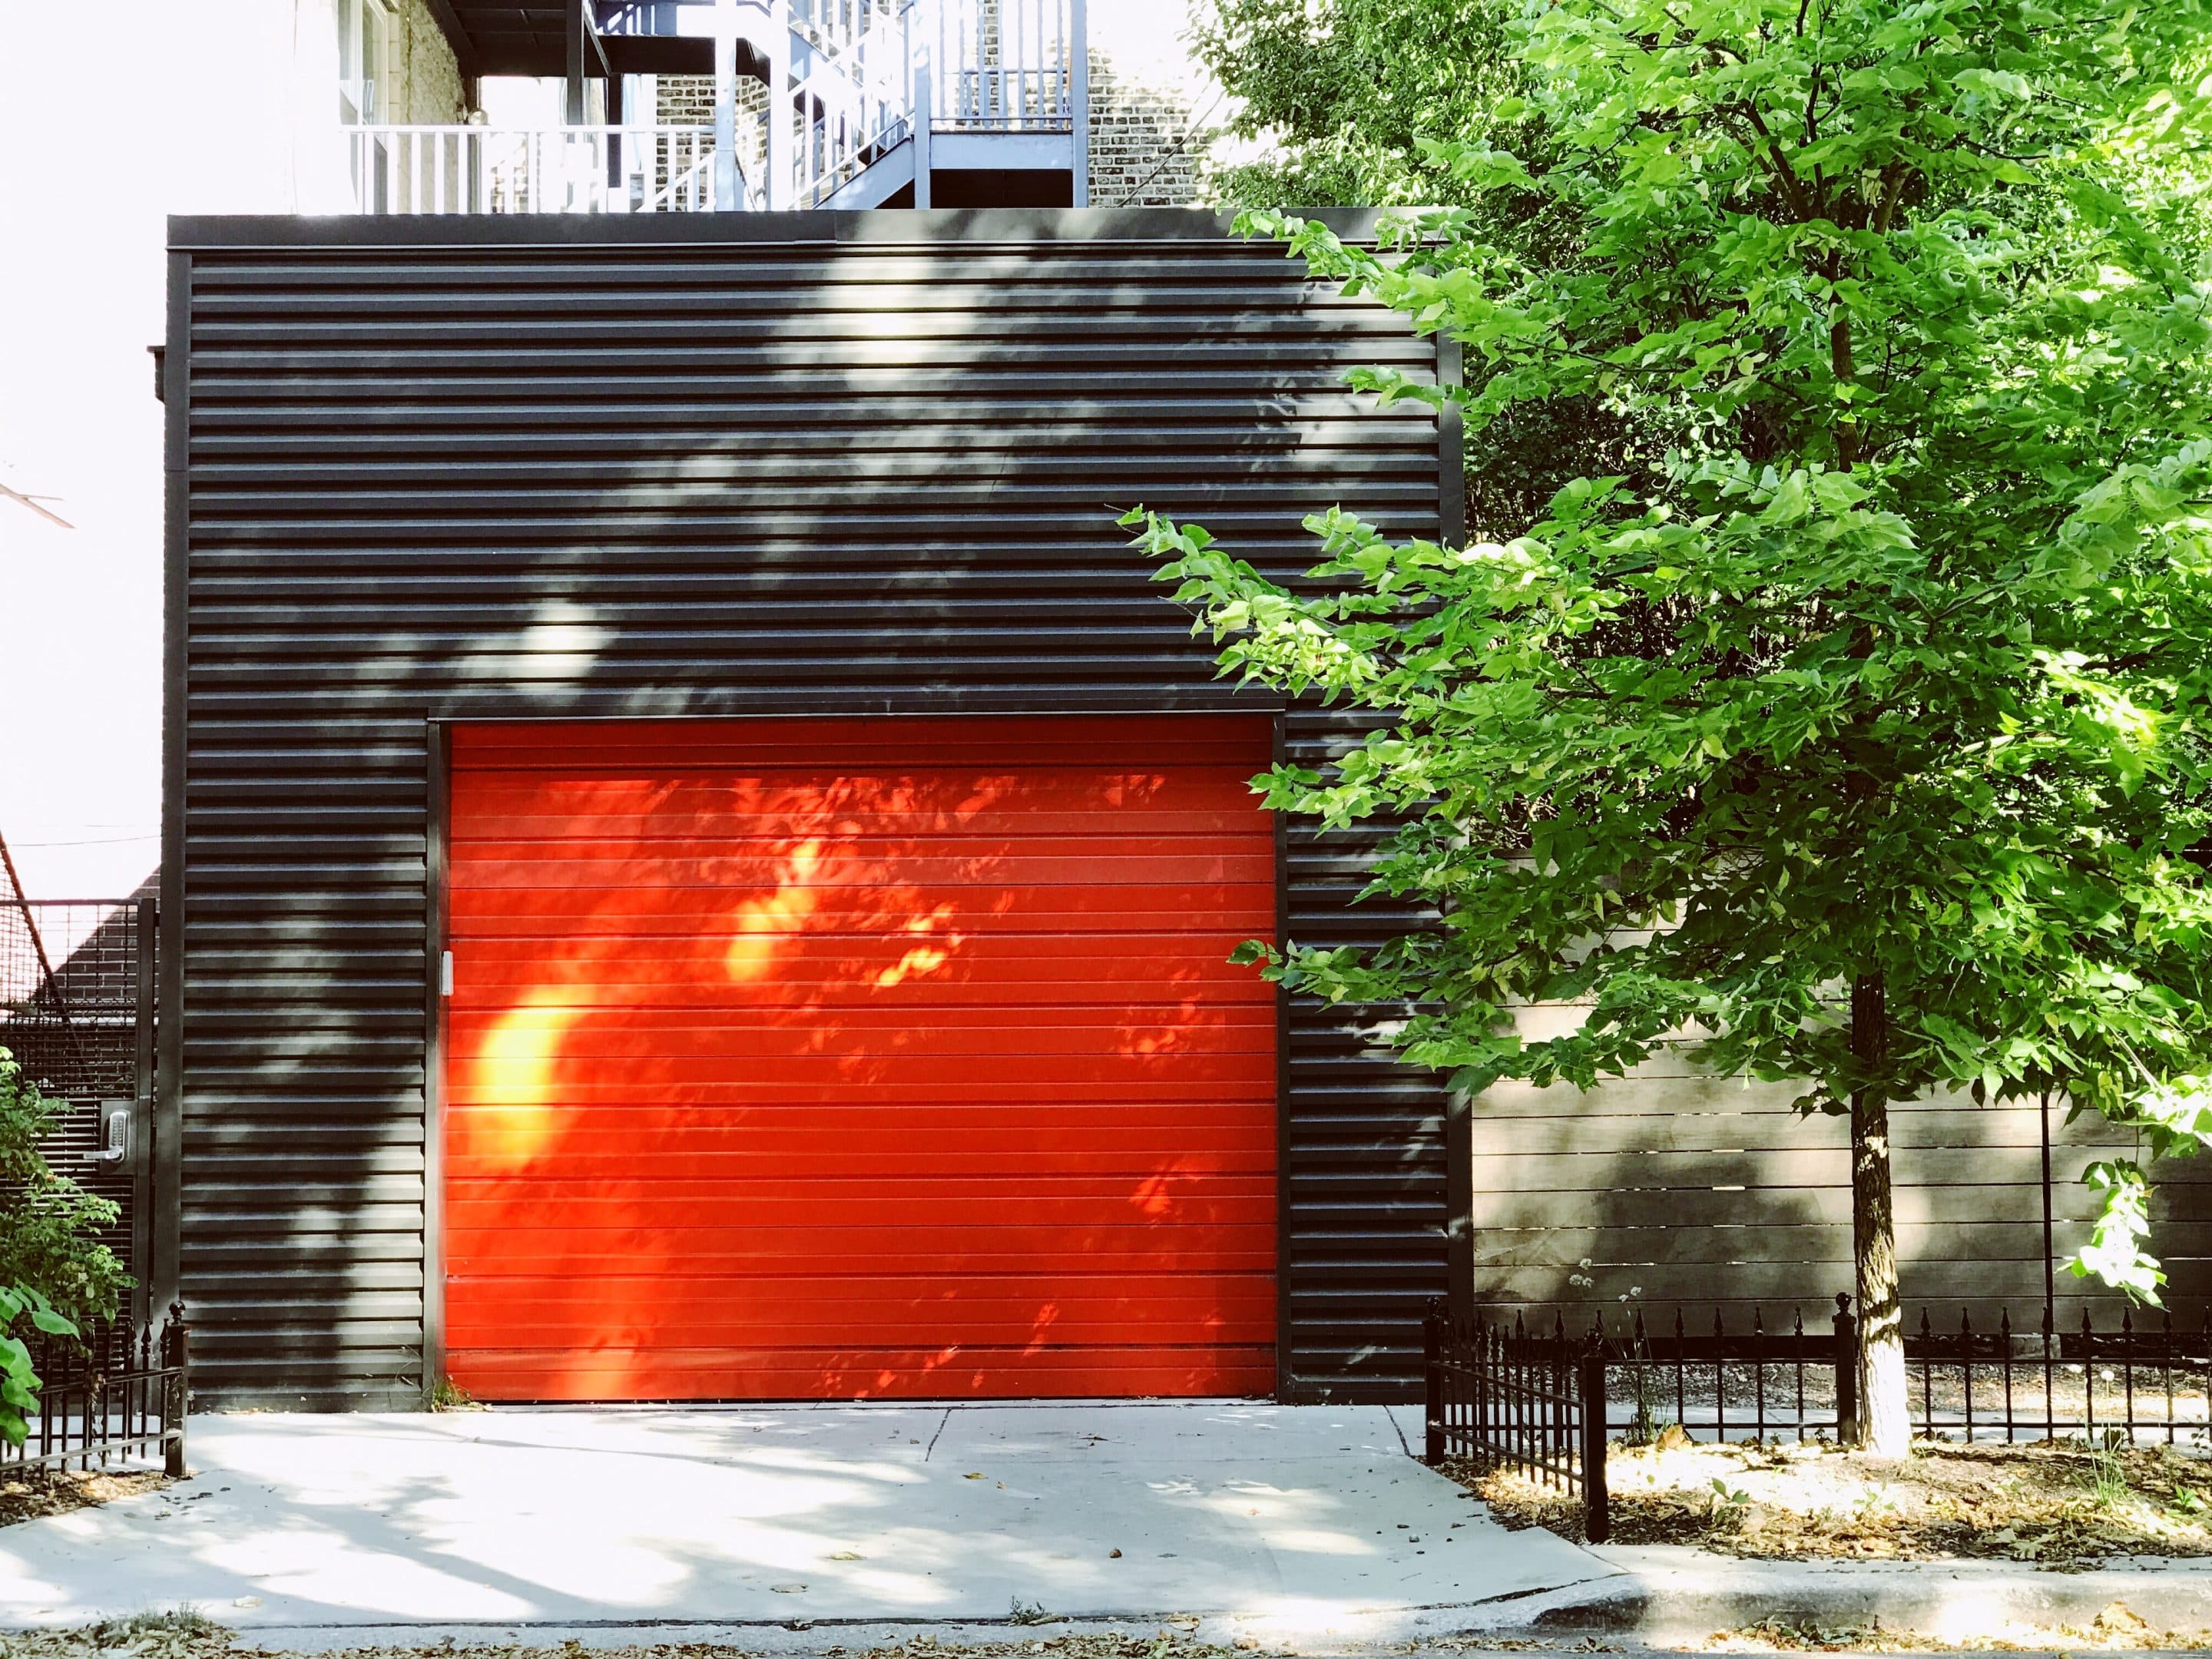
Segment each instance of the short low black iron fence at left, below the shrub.
[[38,1405],[24,1411],[20,1447],[0,1440],[0,1478],[29,1471],[115,1469],[161,1460],[184,1475],[184,1425],[192,1391],[192,1334],[184,1305],[159,1329],[119,1321],[84,1334],[33,1336]]

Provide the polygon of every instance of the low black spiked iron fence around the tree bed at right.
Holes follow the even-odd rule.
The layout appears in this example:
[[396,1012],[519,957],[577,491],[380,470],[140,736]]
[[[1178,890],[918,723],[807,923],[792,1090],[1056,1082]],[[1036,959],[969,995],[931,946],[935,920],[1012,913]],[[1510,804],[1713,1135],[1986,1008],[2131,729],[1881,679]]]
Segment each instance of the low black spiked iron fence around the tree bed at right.
[[[1825,1323],[1825,1329],[1818,1325]],[[1582,1498],[1584,1533],[1608,1533],[1606,1447],[1650,1444],[1663,1429],[1690,1440],[1781,1438],[1847,1442],[1858,1433],[1856,1318],[1849,1296],[1816,1329],[1761,1310],[1728,1325],[1674,1312],[1604,1314],[1573,1332],[1564,1312],[1531,1325],[1522,1312],[1447,1314],[1429,1307],[1427,1460],[1511,1469]],[[2046,1307],[2022,1329],[2000,1310],[1975,1329],[1960,1314],[1938,1329],[1922,1312],[1905,1329],[1913,1433],[1924,1440],[2057,1440],[2212,1451],[2212,1307],[2124,1312],[2097,1329],[2084,1312],[2062,1329]]]

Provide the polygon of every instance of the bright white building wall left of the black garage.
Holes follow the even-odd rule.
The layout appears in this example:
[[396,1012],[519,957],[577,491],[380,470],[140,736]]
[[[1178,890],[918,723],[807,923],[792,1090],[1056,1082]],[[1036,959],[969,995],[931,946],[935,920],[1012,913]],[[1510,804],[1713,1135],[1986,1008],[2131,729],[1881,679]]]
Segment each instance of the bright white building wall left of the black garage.
[[[33,898],[128,894],[161,814],[166,217],[345,206],[332,0],[0,4],[0,834]],[[460,75],[398,0],[409,119]],[[97,86],[100,111],[86,104]]]

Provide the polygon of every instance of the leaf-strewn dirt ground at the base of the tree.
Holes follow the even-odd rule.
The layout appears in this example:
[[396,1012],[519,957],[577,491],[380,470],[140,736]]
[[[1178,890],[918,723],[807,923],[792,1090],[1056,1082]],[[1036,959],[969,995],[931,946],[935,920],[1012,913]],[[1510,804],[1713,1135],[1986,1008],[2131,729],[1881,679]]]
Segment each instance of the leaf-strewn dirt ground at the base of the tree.
[[[1522,1475],[1444,1473],[1509,1526],[1579,1537],[1582,1504]],[[2212,1555],[2212,1460],[2166,1447],[1924,1442],[1900,1462],[1807,1444],[1615,1447],[1615,1544],[1703,1544],[1776,1559],[1982,1557],[2079,1568]]]

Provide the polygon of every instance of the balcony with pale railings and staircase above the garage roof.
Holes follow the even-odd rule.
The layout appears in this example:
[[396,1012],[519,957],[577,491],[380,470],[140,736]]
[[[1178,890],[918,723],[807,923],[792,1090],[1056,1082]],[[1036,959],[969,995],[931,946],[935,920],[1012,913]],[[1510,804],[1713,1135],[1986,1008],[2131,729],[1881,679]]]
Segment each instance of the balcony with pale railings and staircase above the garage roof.
[[[1064,170],[1068,199],[1086,197],[1084,0],[602,0],[582,15],[606,42],[646,40],[650,29],[695,42],[710,31],[717,122],[347,126],[352,208],[929,206],[938,170]],[[739,62],[781,84],[783,100],[754,97],[741,113]],[[568,104],[586,106],[575,77]]]

